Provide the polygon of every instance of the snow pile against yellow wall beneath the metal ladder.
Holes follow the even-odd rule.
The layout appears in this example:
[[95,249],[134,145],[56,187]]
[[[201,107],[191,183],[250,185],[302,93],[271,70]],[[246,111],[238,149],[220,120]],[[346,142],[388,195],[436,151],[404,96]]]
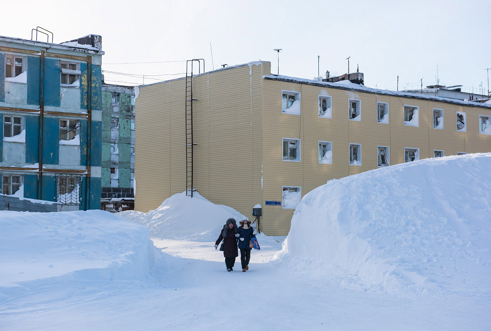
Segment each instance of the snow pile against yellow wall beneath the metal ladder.
[[160,207],[147,213],[133,210],[117,213],[119,217],[147,226],[150,237],[198,242],[217,240],[228,218],[248,219],[229,206],[214,204],[194,192],[193,197],[178,193],[166,199]]

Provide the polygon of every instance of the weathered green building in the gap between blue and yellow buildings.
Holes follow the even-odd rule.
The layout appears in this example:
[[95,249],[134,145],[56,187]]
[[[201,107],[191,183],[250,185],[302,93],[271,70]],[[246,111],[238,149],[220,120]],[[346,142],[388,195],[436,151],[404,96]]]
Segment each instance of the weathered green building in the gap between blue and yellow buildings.
[[132,86],[102,84],[101,209],[134,209],[135,99]]

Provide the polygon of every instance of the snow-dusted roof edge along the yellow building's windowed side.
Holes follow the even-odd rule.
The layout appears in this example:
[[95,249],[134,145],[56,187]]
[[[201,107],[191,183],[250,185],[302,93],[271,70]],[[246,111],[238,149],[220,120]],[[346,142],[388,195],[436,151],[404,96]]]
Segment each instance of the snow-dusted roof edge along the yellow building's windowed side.
[[402,92],[402,91],[381,90],[381,89],[377,89],[377,88],[371,88],[371,87],[368,87],[365,85],[355,84],[355,83],[350,82],[349,80],[331,83],[331,82],[318,81],[318,80],[305,79],[305,78],[297,78],[297,77],[290,77],[290,76],[283,76],[283,75],[265,75],[265,76],[263,76],[263,78],[264,79],[270,79],[270,80],[288,81],[288,82],[292,82],[292,83],[302,83],[302,84],[314,85],[314,86],[320,86],[320,87],[337,88],[337,89],[356,91],[356,92],[366,92],[366,93],[381,94],[381,95],[392,95],[392,96],[412,98],[412,99],[434,100],[434,101],[439,101],[439,102],[451,103],[451,104],[455,104],[455,105],[464,105],[464,106],[491,109],[491,106],[489,104],[486,104],[486,103],[478,103],[478,102],[466,101],[466,100],[448,99],[448,98],[443,98],[443,97],[436,97],[436,96],[431,96],[431,95]]

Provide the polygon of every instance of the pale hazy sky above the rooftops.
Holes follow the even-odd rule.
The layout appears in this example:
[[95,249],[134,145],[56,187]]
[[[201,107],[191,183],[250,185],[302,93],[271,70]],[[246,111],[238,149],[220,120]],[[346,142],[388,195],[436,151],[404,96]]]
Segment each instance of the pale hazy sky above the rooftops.
[[[104,63],[204,58],[212,68],[271,61],[280,74],[312,78],[357,64],[367,86],[462,84],[487,92],[491,67],[491,1],[16,1],[20,18],[0,21],[0,35],[30,39],[40,25],[55,43],[89,33],[103,36]],[[85,14],[89,13],[90,17]],[[184,63],[104,65],[136,74],[180,73]],[[179,76],[179,75],[178,75]],[[142,83],[105,74],[106,80]],[[160,79],[177,76],[162,76]],[[157,80],[145,79],[145,83]]]

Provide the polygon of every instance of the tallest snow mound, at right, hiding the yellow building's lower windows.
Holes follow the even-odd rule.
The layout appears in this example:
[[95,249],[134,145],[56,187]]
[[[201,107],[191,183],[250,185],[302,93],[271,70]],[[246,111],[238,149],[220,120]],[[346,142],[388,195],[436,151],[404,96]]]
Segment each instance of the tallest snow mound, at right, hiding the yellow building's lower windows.
[[332,180],[297,207],[279,257],[365,289],[491,293],[491,153]]

